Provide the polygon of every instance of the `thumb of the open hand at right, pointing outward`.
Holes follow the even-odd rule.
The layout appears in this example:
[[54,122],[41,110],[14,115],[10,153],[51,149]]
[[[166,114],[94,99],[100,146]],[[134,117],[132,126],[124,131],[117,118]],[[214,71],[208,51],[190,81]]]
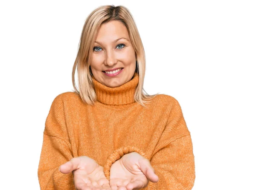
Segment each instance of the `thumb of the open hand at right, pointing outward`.
[[143,159],[143,161],[140,162],[140,170],[144,173],[148,180],[152,182],[157,182],[159,180],[158,176],[154,173],[154,168],[151,166],[148,159]]

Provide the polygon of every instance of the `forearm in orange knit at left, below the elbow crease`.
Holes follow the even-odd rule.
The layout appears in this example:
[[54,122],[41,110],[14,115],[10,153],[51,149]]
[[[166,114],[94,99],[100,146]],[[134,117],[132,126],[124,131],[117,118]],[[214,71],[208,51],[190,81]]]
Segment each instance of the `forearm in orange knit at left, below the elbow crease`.
[[72,190],[73,173],[61,173],[58,168],[72,159],[69,145],[61,138],[44,134],[38,166],[38,181],[41,190]]

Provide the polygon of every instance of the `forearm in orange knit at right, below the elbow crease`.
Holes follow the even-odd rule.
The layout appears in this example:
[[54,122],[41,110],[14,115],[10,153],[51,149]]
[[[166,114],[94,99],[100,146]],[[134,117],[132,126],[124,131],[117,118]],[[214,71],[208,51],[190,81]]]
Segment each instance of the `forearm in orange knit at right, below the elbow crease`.
[[[195,163],[190,135],[159,150],[152,157],[151,166],[159,181],[149,181],[148,186],[155,190],[191,190],[195,181]],[[148,187],[145,189],[149,190]]]

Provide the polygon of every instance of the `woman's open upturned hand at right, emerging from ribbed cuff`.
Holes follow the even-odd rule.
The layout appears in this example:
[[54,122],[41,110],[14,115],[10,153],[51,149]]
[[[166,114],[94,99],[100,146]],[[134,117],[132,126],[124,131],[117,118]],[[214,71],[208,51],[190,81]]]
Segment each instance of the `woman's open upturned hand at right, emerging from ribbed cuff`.
[[158,181],[150,161],[139,153],[122,156],[111,165],[109,184],[111,190],[135,190],[148,185],[148,180]]

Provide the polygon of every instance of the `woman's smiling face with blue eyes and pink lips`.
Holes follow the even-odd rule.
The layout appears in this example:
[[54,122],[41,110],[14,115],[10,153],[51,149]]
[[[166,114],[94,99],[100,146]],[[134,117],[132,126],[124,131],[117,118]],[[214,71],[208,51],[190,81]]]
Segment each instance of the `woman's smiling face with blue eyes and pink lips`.
[[136,54],[128,30],[120,21],[110,21],[99,28],[90,66],[93,77],[108,87],[131,80],[136,68]]

